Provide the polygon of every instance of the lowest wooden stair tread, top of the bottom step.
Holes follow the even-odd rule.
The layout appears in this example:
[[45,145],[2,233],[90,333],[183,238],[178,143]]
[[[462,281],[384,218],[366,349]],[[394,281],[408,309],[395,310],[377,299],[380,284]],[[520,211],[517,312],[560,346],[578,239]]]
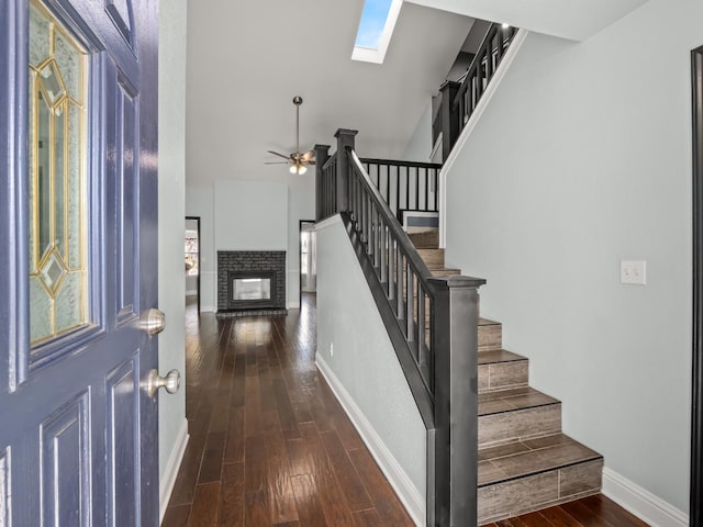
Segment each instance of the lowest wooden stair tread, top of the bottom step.
[[479,449],[479,487],[602,459],[565,434]]

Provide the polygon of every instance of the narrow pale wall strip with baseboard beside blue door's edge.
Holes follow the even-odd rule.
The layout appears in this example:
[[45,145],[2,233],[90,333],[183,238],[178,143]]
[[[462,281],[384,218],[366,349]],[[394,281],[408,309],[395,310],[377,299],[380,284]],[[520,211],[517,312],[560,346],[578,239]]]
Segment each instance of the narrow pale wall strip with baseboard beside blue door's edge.
[[[176,368],[186,375],[183,228],[186,215],[186,0],[159,9],[158,104],[158,307],[166,329],[158,336],[161,374]],[[168,498],[185,447],[186,390],[158,396],[159,482]],[[161,509],[163,505],[161,503]],[[161,511],[163,512],[163,511]]]

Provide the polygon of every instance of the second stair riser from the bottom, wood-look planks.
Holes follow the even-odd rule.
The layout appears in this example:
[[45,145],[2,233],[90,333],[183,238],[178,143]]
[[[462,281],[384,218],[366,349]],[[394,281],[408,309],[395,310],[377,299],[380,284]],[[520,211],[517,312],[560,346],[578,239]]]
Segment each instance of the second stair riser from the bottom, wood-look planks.
[[561,404],[549,404],[479,417],[479,448],[561,431]]

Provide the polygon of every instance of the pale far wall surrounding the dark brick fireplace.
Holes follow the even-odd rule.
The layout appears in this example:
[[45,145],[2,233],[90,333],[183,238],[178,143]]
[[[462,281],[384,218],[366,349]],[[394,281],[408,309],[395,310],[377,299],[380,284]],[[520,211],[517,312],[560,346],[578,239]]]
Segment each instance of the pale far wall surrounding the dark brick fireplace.
[[200,216],[201,309],[216,311],[217,250],[286,250],[289,307],[298,307],[300,220],[314,220],[313,170],[288,183],[219,180],[188,187],[186,211]]

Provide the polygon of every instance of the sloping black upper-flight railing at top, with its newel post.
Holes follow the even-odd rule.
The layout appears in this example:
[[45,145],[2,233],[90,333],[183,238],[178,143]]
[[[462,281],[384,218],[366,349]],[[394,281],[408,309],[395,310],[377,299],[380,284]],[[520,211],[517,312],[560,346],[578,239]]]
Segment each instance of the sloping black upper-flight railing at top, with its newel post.
[[[447,160],[517,31],[517,27],[491,24],[466,74],[459,81],[446,81],[439,88],[442,102],[436,117],[439,122],[433,126],[435,133],[442,131],[443,161]],[[433,141],[436,139],[433,136]]]

